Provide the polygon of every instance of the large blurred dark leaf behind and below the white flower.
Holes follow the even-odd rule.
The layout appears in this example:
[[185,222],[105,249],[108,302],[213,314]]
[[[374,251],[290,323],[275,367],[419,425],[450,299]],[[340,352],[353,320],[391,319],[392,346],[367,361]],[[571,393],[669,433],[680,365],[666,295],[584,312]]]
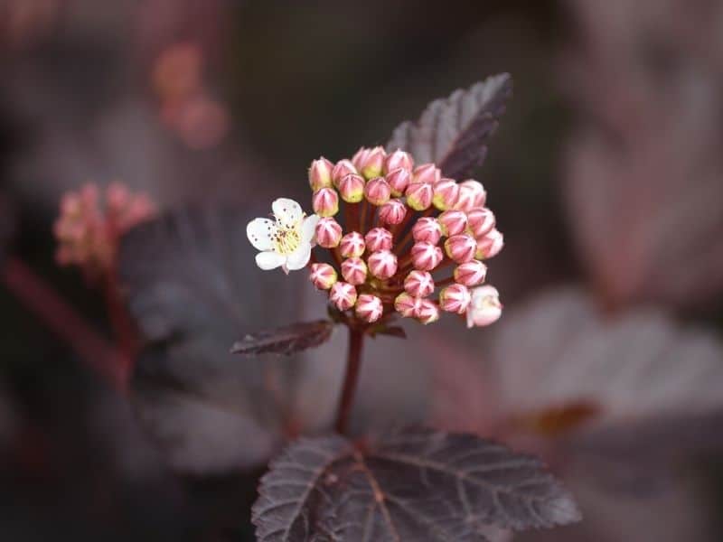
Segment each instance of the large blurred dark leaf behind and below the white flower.
[[[221,473],[268,461],[282,442],[300,363],[238,363],[229,345],[300,313],[304,274],[264,273],[246,224],[266,209],[185,210],[123,239],[120,278],[146,340],[133,398],[175,469]],[[279,310],[283,307],[283,310]]]

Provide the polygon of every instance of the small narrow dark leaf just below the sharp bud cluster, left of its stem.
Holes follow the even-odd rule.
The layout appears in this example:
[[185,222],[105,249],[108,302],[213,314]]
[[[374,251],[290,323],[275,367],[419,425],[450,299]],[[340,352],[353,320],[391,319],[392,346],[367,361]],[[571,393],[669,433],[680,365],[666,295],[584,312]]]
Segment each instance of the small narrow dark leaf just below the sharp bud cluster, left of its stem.
[[332,336],[333,322],[293,323],[285,327],[264,332],[251,333],[236,342],[231,348],[232,354],[293,354],[315,348]]

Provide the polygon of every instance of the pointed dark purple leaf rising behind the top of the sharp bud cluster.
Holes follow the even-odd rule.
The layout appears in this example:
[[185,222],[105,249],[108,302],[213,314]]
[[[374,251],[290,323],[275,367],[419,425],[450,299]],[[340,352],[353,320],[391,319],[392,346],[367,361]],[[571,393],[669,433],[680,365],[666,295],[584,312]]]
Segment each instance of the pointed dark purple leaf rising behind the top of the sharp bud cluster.
[[482,165],[487,140],[496,129],[512,94],[507,73],[455,90],[431,102],[416,123],[395,128],[387,144],[411,153],[418,164],[433,162],[446,177],[462,179]]

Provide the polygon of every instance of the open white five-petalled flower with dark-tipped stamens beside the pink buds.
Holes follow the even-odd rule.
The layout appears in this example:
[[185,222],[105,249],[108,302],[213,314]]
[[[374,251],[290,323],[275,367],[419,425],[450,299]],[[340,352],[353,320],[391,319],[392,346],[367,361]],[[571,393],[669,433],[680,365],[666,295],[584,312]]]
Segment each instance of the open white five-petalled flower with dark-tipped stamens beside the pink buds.
[[303,269],[311,257],[317,215],[305,217],[301,205],[288,198],[271,204],[274,220],[254,219],[246,227],[246,235],[254,248],[256,264],[267,271],[281,267],[285,273]]

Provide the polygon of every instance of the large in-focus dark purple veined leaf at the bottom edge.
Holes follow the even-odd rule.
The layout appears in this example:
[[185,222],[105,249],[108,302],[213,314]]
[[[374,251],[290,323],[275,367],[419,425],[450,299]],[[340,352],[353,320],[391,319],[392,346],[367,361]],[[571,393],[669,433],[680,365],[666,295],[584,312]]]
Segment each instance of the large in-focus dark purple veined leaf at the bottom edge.
[[252,512],[260,542],[484,542],[493,528],[580,519],[539,460],[473,435],[407,429],[369,445],[304,439],[270,469]]

